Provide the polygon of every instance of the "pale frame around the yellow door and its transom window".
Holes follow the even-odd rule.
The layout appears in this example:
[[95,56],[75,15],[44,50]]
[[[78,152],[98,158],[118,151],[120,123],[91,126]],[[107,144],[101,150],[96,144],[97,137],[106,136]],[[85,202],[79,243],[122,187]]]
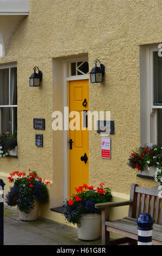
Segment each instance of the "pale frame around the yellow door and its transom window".
[[[77,56],[68,58],[65,61],[65,83],[64,83],[64,92],[65,92],[65,102],[64,106],[68,107],[68,111],[70,110],[70,81],[75,80],[89,80],[89,74],[86,75],[79,75],[79,76],[69,76],[68,70],[70,70],[70,63],[72,62],[80,62],[80,61],[87,61],[88,56]],[[68,112],[69,114],[69,112]],[[68,141],[70,140],[70,130],[64,131],[64,149],[65,149],[65,161],[64,161],[64,197],[70,198],[70,147]]]

